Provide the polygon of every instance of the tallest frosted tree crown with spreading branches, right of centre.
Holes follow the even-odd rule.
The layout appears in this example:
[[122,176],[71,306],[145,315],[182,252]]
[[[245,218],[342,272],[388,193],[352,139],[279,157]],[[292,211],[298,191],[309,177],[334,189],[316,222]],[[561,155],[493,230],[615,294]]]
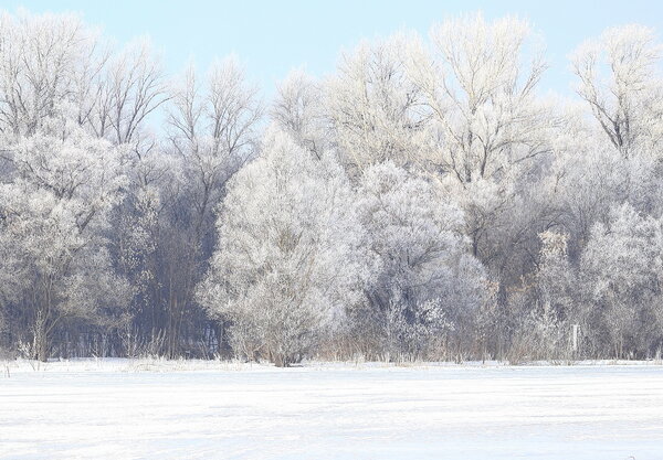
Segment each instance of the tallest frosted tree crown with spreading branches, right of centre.
[[535,98],[545,64],[527,22],[451,19],[431,30],[431,42],[409,67],[439,130],[435,163],[467,184],[498,179],[546,151]]

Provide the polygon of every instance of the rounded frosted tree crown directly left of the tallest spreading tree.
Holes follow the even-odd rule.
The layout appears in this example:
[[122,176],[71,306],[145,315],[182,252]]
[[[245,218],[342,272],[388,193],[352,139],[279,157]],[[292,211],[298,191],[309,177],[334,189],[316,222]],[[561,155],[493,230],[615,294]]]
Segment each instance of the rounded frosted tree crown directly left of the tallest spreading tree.
[[411,36],[368,43],[344,55],[327,83],[326,106],[344,162],[354,170],[390,160],[399,165],[424,154],[429,110],[407,72]]

